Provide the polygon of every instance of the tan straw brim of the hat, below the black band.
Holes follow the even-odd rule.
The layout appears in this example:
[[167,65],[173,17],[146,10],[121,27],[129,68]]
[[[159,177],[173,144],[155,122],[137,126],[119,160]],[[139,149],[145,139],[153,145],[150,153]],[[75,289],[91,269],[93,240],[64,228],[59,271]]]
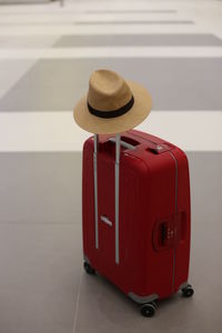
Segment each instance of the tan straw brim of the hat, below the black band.
[[139,125],[150,113],[152,107],[151,95],[142,85],[127,81],[134,97],[134,104],[123,115],[115,118],[99,118],[89,112],[87,95],[74,107],[75,122],[83,130],[95,134],[121,133]]

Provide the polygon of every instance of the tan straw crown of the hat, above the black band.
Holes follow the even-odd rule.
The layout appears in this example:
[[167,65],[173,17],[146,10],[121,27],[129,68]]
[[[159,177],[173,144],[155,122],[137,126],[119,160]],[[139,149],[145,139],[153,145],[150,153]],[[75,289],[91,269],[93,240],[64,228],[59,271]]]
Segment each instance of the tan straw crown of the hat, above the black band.
[[89,81],[88,103],[100,111],[113,111],[125,105],[132,98],[130,87],[118,73],[109,70],[94,71]]

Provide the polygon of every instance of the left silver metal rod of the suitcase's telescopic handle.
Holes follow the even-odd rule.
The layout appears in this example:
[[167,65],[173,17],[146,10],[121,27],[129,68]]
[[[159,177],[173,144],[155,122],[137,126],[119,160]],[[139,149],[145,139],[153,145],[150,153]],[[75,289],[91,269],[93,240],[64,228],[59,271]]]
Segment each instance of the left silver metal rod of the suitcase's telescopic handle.
[[95,232],[95,249],[99,249],[99,230],[98,230],[98,143],[99,135],[94,134],[94,153],[93,153],[93,171],[94,171],[94,232]]

